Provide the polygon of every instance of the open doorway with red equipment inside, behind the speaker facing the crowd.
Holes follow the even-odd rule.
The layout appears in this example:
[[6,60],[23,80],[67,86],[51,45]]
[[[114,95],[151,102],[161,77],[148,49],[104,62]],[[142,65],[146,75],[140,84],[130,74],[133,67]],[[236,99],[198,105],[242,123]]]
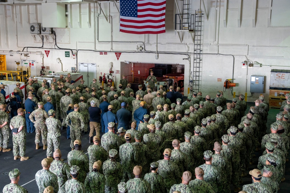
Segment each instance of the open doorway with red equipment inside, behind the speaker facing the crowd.
[[155,83],[157,90],[163,85],[164,91],[169,90],[170,86],[173,86],[174,91],[177,87],[180,87],[181,92],[184,91],[184,65],[125,61],[121,62],[120,67],[121,78],[125,75],[134,92],[138,90],[139,84],[143,84],[143,90],[146,89],[148,84],[146,79],[151,71],[157,79]]

